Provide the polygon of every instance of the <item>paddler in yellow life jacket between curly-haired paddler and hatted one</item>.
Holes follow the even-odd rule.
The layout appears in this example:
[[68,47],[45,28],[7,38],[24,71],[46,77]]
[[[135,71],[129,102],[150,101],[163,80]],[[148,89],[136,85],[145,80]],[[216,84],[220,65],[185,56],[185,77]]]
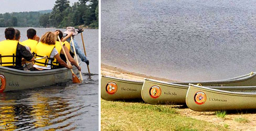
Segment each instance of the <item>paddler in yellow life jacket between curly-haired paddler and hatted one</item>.
[[[56,31],[55,31],[55,35],[56,35],[56,36],[59,35],[60,40],[63,39],[63,33],[62,33],[61,30],[56,30]],[[71,35],[72,35],[72,34],[69,34],[68,37],[70,37]],[[68,60],[71,62],[72,65],[75,65],[79,71],[81,71],[81,67],[79,67],[79,65],[77,64],[77,62],[71,57],[71,55],[70,55],[70,53],[69,53],[70,49],[68,49],[68,48],[66,47],[66,46],[69,46],[69,48],[70,48],[69,43],[67,43],[67,42],[61,42],[61,43],[62,43],[62,45],[63,45],[63,48],[64,48],[65,51],[66,51]],[[61,48],[61,46],[60,46],[60,42],[59,42],[58,39],[57,39],[57,41],[56,41],[56,43],[55,43],[55,48],[56,48],[57,51],[59,52],[60,58],[61,58],[63,61],[67,61],[67,60],[66,60],[66,57],[65,57],[65,54],[64,54],[64,52],[63,52],[63,50],[62,50],[62,48]],[[57,62],[57,59],[56,59],[56,58],[55,58],[55,60],[54,60],[54,62],[53,62],[52,64],[53,64],[53,69],[63,68],[61,65],[59,65],[59,63]]]

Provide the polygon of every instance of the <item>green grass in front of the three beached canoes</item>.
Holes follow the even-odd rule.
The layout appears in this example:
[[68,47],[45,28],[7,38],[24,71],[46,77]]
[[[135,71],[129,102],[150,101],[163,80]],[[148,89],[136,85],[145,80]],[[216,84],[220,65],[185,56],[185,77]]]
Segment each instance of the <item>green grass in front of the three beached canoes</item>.
[[228,130],[182,116],[168,105],[112,102],[101,99],[101,130]]

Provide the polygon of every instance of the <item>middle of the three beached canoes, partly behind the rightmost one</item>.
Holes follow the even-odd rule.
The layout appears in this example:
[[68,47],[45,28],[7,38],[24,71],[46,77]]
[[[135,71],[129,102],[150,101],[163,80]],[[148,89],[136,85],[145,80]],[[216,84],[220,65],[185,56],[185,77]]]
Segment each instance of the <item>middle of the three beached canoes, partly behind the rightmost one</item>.
[[[203,86],[221,89],[221,86],[256,86],[256,73],[242,75],[240,77],[203,82],[175,82],[168,83],[163,81],[145,79],[142,87],[142,99],[148,104],[185,104],[188,84],[199,84]],[[221,90],[226,90],[222,88]]]

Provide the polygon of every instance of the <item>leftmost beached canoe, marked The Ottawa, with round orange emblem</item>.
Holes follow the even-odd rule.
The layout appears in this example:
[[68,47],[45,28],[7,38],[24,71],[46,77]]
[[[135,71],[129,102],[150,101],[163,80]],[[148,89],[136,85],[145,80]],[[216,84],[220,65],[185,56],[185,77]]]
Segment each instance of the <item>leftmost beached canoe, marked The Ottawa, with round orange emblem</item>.
[[101,76],[101,97],[109,101],[141,99],[143,81]]

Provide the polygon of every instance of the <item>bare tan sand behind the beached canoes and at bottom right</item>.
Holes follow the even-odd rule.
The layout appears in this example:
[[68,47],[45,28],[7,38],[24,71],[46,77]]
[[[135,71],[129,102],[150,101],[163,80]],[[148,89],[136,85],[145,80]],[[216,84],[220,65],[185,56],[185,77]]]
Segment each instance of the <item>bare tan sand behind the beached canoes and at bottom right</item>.
[[[125,71],[116,67],[101,64],[101,74],[128,80],[144,80],[144,78],[156,79],[161,81],[172,81],[163,78],[156,78],[144,74]],[[220,126],[228,125],[231,130],[256,130],[255,111],[228,111],[225,118],[217,117],[216,112],[195,112],[186,106],[179,107],[177,111],[187,117],[211,122]],[[242,121],[239,121],[242,119]]]

